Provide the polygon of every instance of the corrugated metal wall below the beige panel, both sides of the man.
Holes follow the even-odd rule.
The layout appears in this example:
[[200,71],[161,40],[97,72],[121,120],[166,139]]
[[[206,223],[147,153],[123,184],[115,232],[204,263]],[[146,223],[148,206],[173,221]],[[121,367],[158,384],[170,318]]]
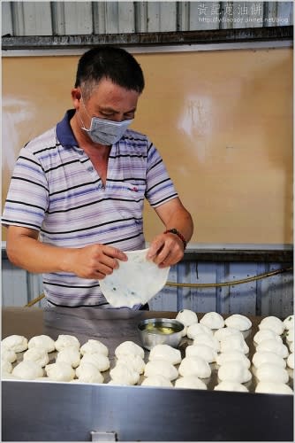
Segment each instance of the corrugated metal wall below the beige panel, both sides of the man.
[[[168,280],[176,283],[234,282],[249,276],[287,268],[289,263],[196,262],[188,260],[170,268]],[[2,304],[25,306],[42,293],[42,277],[15,268],[3,260]],[[195,312],[216,311],[221,314],[277,315],[293,313],[293,276],[291,272],[270,276],[256,282],[219,288],[184,288],[165,286],[149,302],[151,310],[177,312],[182,308]],[[39,305],[42,306],[42,302]]]

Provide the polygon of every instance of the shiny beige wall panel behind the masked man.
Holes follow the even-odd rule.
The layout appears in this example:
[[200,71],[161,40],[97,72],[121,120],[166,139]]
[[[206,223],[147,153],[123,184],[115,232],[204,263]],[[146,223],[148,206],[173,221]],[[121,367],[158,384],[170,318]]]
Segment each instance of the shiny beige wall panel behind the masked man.
[[[292,50],[138,54],[133,128],[163,155],[194,243],[292,243]],[[3,59],[3,199],[20,147],[70,108],[77,57]],[[150,240],[161,222],[146,209]]]

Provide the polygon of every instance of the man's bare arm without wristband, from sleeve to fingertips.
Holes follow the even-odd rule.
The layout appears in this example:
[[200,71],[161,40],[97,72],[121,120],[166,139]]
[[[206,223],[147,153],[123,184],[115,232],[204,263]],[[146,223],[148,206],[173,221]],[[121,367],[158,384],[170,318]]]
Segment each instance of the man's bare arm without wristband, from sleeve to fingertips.
[[43,244],[37,230],[9,226],[6,249],[11,262],[29,272],[71,272],[82,278],[102,279],[118,268],[125,253],[107,245],[63,248]]

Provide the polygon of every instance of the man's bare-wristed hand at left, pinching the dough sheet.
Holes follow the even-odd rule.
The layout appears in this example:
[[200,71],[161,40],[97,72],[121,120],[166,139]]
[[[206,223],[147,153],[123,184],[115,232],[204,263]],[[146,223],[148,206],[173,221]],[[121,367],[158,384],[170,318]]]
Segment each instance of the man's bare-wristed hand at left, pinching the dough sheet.
[[71,272],[81,278],[96,280],[109,276],[119,267],[118,260],[126,261],[127,256],[117,248],[107,245],[90,245],[72,249],[67,253]]

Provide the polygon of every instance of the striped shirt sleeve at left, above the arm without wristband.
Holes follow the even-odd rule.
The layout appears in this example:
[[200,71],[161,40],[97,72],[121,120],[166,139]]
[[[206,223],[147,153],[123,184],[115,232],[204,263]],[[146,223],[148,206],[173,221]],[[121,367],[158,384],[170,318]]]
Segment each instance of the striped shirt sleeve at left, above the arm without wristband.
[[2,224],[40,230],[49,205],[49,187],[42,165],[27,147],[19,153],[4,205]]

